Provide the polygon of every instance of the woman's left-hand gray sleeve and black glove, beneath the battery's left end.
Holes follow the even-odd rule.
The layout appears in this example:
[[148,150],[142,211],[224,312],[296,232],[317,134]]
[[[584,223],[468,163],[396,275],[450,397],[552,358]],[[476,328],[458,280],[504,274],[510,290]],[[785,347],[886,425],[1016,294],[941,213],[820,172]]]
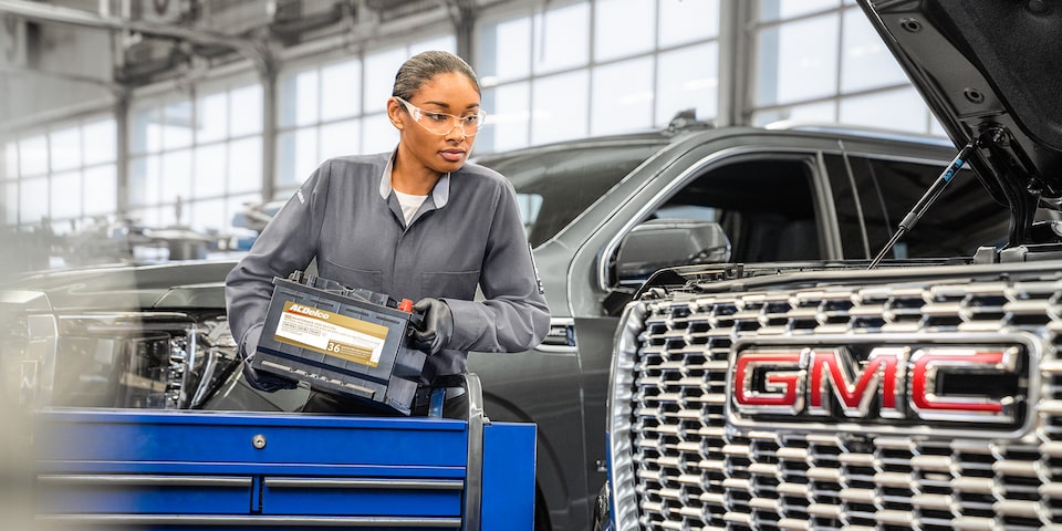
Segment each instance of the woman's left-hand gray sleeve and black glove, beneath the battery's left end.
[[273,293],[273,278],[304,270],[316,254],[326,206],[329,163],[317,168],[254,240],[251,250],[225,279],[225,301],[232,336],[239,342],[243,374],[262,391],[292,388],[294,382],[256,372],[250,362],[258,347]]

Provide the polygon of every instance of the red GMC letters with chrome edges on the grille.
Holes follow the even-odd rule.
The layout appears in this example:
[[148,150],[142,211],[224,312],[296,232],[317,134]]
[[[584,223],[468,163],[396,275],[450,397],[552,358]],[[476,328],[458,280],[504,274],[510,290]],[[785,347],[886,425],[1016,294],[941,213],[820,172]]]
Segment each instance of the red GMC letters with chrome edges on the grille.
[[844,346],[746,348],[735,360],[733,404],[743,415],[1011,423],[1020,397],[948,394],[944,376],[1014,375],[1019,353],[879,346],[858,361]]

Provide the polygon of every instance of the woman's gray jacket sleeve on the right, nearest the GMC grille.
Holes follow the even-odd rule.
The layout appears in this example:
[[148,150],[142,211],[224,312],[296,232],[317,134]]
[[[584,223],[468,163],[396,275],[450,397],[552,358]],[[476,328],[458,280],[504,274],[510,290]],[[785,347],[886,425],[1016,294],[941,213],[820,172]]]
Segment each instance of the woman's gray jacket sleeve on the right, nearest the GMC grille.
[[449,348],[523,352],[538,346],[550,330],[550,310],[520,220],[516,191],[508,180],[503,185],[480,273],[485,300],[446,299],[454,314]]

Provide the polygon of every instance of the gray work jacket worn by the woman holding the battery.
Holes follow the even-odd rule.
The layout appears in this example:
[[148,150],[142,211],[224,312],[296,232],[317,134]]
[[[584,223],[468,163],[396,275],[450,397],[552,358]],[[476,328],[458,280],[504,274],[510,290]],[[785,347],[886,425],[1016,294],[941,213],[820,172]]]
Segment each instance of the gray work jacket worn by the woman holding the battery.
[[[454,335],[428,356],[423,383],[464,372],[468,351],[522,352],[545,337],[549,309],[512,184],[466,164],[442,176],[407,227],[391,157],[322,164],[228,274],[229,325],[244,360],[258,345],[273,278],[305,270],[314,258],[320,278],[350,288],[446,301]],[[473,300],[477,287],[485,300]]]

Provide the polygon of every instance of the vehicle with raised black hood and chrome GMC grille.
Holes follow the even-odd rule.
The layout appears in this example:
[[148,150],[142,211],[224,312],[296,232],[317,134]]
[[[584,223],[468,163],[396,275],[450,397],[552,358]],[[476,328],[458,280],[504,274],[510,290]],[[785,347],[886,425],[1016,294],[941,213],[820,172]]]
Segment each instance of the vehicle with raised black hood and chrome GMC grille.
[[[871,237],[873,260],[739,257],[643,284],[616,336],[598,528],[1062,523],[1060,12],[860,3],[954,140],[951,162],[891,237]],[[948,226],[964,183],[960,201],[1009,207],[1006,238],[977,217]],[[888,254],[925,238],[943,258]]]

